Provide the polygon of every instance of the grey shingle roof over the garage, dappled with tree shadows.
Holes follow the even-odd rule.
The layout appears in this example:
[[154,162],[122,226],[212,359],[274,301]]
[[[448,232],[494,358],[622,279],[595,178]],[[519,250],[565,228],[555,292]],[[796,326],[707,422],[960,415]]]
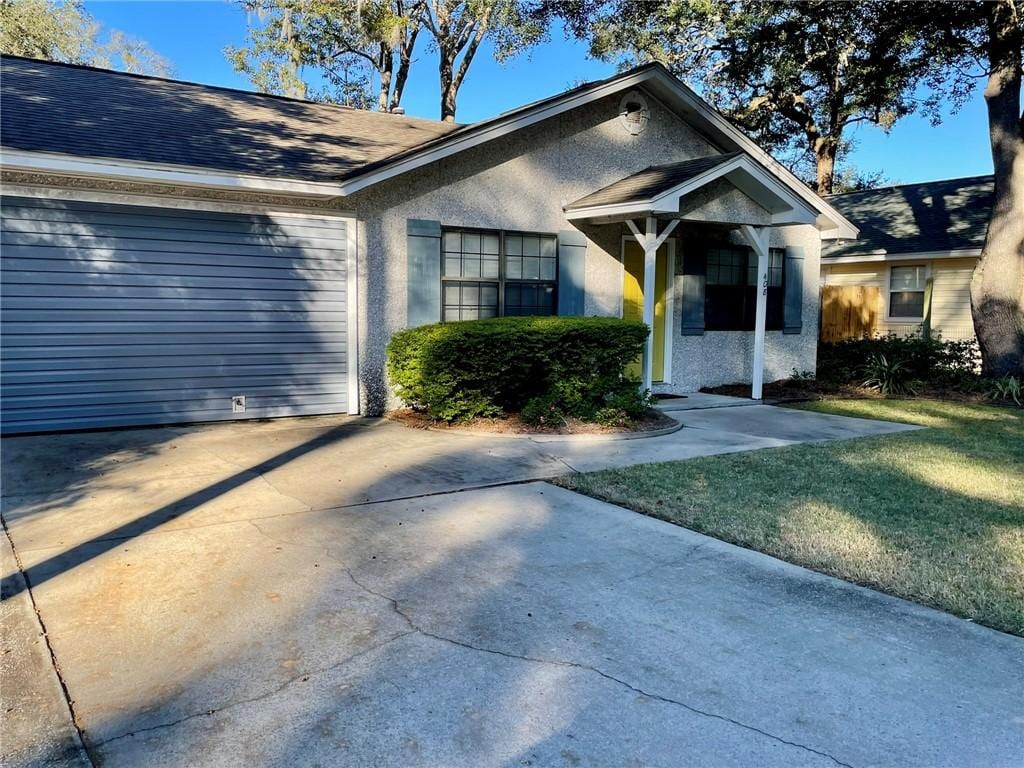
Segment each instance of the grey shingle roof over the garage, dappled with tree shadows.
[[333,181],[458,130],[399,115],[3,56],[7,148]]

